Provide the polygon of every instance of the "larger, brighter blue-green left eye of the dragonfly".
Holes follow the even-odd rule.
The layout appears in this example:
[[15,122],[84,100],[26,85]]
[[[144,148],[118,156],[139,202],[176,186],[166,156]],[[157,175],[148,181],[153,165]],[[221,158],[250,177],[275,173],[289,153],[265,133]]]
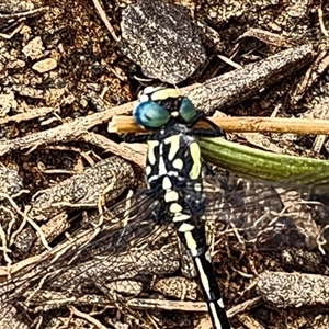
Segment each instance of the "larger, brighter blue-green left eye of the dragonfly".
[[133,116],[144,128],[159,128],[170,120],[169,111],[154,101],[138,103],[133,111]]

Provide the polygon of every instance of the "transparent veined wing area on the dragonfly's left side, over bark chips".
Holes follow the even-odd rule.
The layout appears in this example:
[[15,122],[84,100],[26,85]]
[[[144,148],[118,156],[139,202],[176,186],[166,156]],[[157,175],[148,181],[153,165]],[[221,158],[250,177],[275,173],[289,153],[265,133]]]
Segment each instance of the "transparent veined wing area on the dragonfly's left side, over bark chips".
[[[91,218],[52,251],[30,264],[26,260],[16,275],[1,282],[0,304],[45,313],[89,293],[136,295],[138,285],[147,284],[152,275],[177,271],[179,257],[170,234],[163,235],[166,228],[151,220],[158,205],[141,192]],[[137,283],[128,282],[136,277]]]

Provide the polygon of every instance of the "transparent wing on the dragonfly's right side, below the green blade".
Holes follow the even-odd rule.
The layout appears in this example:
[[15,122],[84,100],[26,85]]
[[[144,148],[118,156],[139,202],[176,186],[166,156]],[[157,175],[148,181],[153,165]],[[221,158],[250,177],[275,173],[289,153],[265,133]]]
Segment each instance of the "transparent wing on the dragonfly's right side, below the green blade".
[[[329,185],[322,183],[325,174],[318,177],[311,173],[273,184],[232,174],[208,175],[205,220],[215,220],[230,241],[258,249],[297,247],[325,252],[329,247]],[[317,180],[311,182],[311,178]]]

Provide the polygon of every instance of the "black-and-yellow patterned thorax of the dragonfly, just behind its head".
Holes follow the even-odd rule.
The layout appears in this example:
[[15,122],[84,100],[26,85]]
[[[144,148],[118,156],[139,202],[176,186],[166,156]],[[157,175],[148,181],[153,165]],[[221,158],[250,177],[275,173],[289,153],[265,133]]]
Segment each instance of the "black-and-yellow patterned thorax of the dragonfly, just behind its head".
[[148,140],[148,188],[161,195],[161,212],[173,222],[203,213],[203,166],[200,147],[181,124],[161,129]]

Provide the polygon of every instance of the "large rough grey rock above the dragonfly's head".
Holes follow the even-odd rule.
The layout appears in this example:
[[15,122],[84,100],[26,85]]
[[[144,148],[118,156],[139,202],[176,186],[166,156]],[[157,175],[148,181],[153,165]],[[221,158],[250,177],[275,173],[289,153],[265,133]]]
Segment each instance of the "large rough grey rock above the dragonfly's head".
[[179,83],[207,56],[189,9],[159,0],[139,0],[122,13],[121,50],[147,77]]

